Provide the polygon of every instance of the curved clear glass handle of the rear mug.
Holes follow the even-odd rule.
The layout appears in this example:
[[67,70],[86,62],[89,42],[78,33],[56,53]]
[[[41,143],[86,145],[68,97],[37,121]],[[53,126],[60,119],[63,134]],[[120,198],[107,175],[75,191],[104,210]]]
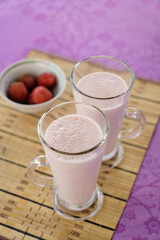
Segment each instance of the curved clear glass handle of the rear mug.
[[125,117],[135,118],[136,120],[138,120],[138,124],[134,128],[121,130],[119,134],[119,139],[136,138],[141,135],[146,124],[146,118],[144,116],[144,113],[137,108],[128,107],[125,111]]

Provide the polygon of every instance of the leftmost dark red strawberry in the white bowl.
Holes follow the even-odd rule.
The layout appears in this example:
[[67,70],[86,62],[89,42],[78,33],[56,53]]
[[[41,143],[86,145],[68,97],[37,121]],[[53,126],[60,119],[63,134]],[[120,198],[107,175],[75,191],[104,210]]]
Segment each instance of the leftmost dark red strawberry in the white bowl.
[[12,82],[8,88],[8,97],[19,103],[25,103],[28,97],[28,90],[23,82]]

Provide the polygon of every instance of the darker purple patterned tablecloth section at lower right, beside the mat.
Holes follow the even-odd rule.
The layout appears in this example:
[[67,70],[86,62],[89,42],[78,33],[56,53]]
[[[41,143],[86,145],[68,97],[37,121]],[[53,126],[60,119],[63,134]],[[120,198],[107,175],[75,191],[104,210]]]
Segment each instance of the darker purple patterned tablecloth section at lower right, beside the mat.
[[112,240],[160,240],[160,120]]

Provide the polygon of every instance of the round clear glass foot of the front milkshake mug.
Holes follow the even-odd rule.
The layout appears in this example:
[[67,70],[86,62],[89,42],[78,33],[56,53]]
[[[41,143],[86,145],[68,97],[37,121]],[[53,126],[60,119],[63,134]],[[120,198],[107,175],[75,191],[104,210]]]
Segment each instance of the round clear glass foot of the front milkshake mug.
[[[91,201],[92,200],[92,201]],[[62,205],[62,201],[58,197],[57,189],[54,190],[52,196],[52,204],[53,208],[60,216],[74,221],[83,221],[94,216],[101,208],[103,203],[103,193],[101,192],[100,188],[96,186],[94,198],[91,199],[90,206],[86,207],[87,204],[80,206],[79,208],[75,208],[76,210],[71,210],[66,208]],[[74,208],[73,206],[70,208]],[[85,209],[84,209],[85,208]]]

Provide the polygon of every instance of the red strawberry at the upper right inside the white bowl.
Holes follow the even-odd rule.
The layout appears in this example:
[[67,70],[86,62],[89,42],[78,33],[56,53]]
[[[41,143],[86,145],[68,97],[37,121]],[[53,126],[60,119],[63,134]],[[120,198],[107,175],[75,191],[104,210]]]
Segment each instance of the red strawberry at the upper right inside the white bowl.
[[43,73],[38,77],[37,83],[39,86],[53,87],[56,84],[56,76],[51,73]]

